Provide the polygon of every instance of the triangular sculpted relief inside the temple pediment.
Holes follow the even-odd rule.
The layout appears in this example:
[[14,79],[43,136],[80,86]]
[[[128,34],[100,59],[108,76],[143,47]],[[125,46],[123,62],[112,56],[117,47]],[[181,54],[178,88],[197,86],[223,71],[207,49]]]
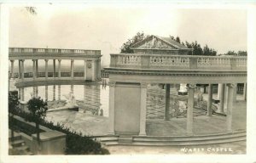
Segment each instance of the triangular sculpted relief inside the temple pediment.
[[143,45],[139,46],[138,48],[168,48],[168,49],[170,49],[170,48],[172,48],[172,46],[159,40],[156,37],[153,37],[151,40],[144,42]]

